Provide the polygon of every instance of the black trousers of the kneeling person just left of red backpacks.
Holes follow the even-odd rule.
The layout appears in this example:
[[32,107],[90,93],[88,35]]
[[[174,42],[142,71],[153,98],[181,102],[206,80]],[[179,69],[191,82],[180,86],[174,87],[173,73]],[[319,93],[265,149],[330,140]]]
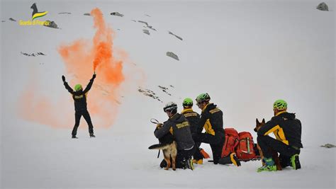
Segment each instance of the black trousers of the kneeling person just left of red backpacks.
[[[213,164],[218,164],[218,160],[220,159],[220,155],[222,154],[225,135],[212,135],[208,133],[201,133],[194,134],[193,139],[196,144],[198,142],[210,144],[211,151],[213,151]],[[203,159],[203,155],[201,154],[201,151],[199,151],[199,148],[197,148],[194,153],[194,159]]]

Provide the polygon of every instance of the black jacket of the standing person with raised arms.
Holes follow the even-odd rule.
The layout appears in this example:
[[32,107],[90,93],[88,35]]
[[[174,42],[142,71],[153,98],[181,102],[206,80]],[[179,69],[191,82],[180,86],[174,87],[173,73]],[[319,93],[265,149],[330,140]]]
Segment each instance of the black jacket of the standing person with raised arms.
[[67,84],[67,82],[64,82],[65,88],[67,88],[67,91],[72,94],[72,98],[74,99],[74,110],[75,111],[84,111],[87,110],[86,108],[86,95],[89,92],[92,84],[94,83],[94,78],[90,79],[89,84],[86,86],[86,88],[81,91],[74,91],[72,88]]

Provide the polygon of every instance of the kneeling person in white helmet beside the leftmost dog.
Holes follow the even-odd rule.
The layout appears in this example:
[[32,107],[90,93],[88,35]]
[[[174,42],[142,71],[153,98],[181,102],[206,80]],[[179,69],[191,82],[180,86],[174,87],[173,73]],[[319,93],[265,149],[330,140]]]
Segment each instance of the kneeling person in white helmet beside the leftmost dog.
[[[163,123],[160,129],[155,130],[155,137],[158,139],[170,132],[177,142],[177,158],[176,168],[190,168],[194,169],[191,156],[195,151],[195,143],[191,137],[190,125],[188,120],[183,115],[177,113],[177,104],[174,102],[167,103],[164,108],[169,119]],[[167,162],[162,161],[160,167],[166,167]]]

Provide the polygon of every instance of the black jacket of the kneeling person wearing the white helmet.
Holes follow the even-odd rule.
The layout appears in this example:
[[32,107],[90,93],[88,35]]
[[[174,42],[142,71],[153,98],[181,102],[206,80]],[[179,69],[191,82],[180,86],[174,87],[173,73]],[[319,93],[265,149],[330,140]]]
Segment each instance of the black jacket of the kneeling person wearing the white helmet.
[[177,149],[191,149],[194,147],[195,142],[191,137],[189,122],[183,115],[176,113],[164,122],[159,130],[155,130],[154,134],[159,139],[169,131],[174,135]]

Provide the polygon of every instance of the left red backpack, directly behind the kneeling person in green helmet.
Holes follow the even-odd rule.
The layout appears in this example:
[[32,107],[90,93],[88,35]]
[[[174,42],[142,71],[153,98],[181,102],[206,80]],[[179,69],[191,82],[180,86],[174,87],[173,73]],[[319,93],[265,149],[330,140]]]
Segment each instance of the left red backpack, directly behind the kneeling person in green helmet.
[[225,130],[225,142],[222,149],[221,158],[228,156],[232,152],[235,152],[235,147],[239,142],[239,135],[237,130],[233,128],[226,128]]

